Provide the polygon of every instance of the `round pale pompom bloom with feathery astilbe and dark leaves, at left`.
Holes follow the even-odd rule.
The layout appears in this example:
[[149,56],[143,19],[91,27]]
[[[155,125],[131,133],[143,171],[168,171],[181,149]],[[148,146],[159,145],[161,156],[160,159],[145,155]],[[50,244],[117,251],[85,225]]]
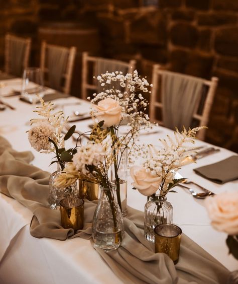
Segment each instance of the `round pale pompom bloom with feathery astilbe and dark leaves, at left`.
[[[66,150],[64,148],[65,140],[69,139],[75,131],[73,125],[66,134],[63,133],[67,118],[63,111],[54,111],[52,102],[45,103],[39,98],[41,105],[34,112],[41,118],[31,119],[31,128],[28,131],[28,139],[31,146],[40,153],[55,153],[56,160],[51,164],[58,162],[61,169],[64,169],[65,162],[72,160],[76,153],[78,141],[74,149]],[[80,138],[80,135],[79,135]]]

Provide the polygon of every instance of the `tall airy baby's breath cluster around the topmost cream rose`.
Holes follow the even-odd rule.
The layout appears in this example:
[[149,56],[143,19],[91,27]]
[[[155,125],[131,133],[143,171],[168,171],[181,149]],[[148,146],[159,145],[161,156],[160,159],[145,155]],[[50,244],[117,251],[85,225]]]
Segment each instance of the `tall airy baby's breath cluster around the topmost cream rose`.
[[[146,78],[141,78],[137,70],[126,75],[118,71],[106,72],[95,79],[99,81],[104,89],[103,92],[93,94],[94,98],[91,100],[92,118],[97,118],[97,120],[103,119],[105,126],[116,126],[116,128],[114,127],[114,135],[117,137],[117,140],[121,141],[123,148],[125,145],[128,146],[129,161],[132,162],[134,157],[138,156],[137,152],[139,152],[139,148],[136,147],[139,130],[152,128],[153,126],[146,113],[148,101],[143,96],[144,93],[151,93],[149,88],[152,85],[148,83]],[[117,82],[116,86],[120,87],[114,88],[112,86],[113,82]],[[88,99],[90,100],[90,97]],[[103,108],[100,103],[102,101]],[[109,111],[110,116],[106,116]],[[119,112],[120,114],[118,114]],[[110,124],[112,117],[116,119],[117,123]],[[129,130],[124,136],[120,136],[116,130],[120,129],[120,126],[125,123],[129,126]]]

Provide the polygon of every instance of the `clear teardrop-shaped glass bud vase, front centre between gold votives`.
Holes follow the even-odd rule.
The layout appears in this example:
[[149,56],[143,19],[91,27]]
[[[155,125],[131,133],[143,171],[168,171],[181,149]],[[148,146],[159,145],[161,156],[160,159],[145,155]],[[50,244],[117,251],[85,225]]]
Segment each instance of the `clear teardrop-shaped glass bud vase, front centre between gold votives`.
[[118,206],[114,188],[100,187],[100,198],[92,220],[94,246],[105,251],[120,247],[124,237],[122,211]]

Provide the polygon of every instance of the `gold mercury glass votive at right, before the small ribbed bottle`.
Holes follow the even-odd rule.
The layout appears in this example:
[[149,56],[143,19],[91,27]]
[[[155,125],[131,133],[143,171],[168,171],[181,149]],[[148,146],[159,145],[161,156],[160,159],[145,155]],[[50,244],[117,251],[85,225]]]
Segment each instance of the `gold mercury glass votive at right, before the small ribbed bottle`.
[[166,253],[178,263],[182,230],[174,224],[160,224],[155,227],[155,252]]

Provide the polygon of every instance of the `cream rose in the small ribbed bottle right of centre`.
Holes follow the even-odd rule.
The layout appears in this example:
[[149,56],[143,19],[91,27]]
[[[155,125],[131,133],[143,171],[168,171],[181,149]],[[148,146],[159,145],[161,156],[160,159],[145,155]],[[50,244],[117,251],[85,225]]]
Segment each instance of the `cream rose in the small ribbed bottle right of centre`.
[[154,194],[161,183],[160,177],[148,173],[143,167],[131,167],[130,174],[134,180],[132,185],[136,187],[141,194],[146,196]]

